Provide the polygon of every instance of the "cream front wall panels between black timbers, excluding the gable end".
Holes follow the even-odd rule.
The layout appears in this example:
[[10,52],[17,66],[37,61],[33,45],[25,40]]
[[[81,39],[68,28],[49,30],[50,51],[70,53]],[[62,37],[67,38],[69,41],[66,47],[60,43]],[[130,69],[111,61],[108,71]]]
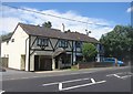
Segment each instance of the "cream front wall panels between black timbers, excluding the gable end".
[[[59,40],[60,39],[48,38],[48,39],[50,39],[51,43],[49,41],[49,46],[45,46],[44,50],[42,50],[39,45],[37,45],[38,38],[39,36],[31,36],[30,71],[34,71],[34,55],[50,55],[51,59],[52,59],[52,62],[53,62],[52,67],[54,67],[54,59],[52,56],[53,56],[54,52],[59,49]],[[72,41],[69,40],[68,48],[65,48],[64,50],[66,51],[66,54],[71,55],[70,64],[72,64],[72,62],[73,62],[73,59],[72,59],[73,58],[72,56]],[[80,51],[80,50],[78,50],[78,51]]]

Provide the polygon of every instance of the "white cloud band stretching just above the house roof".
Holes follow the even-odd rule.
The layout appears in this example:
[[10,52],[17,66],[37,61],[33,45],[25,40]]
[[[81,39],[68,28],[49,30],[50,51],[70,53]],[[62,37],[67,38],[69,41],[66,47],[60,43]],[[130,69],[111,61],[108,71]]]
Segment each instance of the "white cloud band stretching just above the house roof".
[[[64,23],[65,30],[70,29],[71,31],[86,33],[85,29],[88,29],[88,30],[92,31],[92,33],[90,33],[90,36],[100,39],[102,34],[111,31],[113,28],[112,27],[100,27],[100,25],[95,25],[95,23],[96,24],[105,24],[105,25],[114,24],[114,22],[106,21],[105,19],[83,17],[72,10],[61,13],[53,9],[41,10],[41,11],[37,10],[37,9],[30,9],[30,8],[24,8],[24,9],[32,10],[35,12],[42,12],[44,14],[28,12],[28,11],[23,11],[20,9],[12,9],[12,8],[2,6],[2,9],[0,9],[0,11],[2,11],[3,17],[0,17],[0,19],[2,19],[2,22],[0,23],[0,34],[2,34],[3,32],[12,32],[18,22],[41,25],[45,21],[51,21],[52,28],[54,28],[54,29],[61,30],[62,23]],[[58,17],[62,17],[62,18],[69,18],[69,19],[78,20],[78,21],[84,21],[84,22],[88,21],[89,23],[92,23],[92,24],[86,25],[86,23],[53,18],[48,14],[58,15]]]

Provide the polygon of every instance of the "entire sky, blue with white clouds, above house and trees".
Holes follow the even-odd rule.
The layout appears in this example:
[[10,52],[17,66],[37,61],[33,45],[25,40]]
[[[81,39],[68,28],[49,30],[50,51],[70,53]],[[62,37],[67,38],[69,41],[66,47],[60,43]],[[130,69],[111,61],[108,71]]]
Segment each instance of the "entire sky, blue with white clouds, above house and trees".
[[[13,9],[4,4],[91,24]],[[62,23],[65,30],[70,29],[73,32],[85,34],[88,29],[91,31],[89,35],[99,40],[102,34],[112,31],[117,24],[131,24],[133,8],[130,2],[7,2],[1,4],[0,11],[2,12],[0,34],[12,32],[18,22],[41,25],[50,21],[54,29],[62,30]]]

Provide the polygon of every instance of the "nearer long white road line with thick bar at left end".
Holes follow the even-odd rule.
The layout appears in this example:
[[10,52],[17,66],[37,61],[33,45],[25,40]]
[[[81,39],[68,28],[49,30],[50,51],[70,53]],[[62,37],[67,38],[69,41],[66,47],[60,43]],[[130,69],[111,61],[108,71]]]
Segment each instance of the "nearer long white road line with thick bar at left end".
[[65,87],[65,88],[62,87],[62,83],[59,83],[59,91],[73,90],[73,88],[78,88],[78,87],[83,87],[83,86],[89,86],[89,85],[94,85],[94,84],[101,84],[101,83],[104,83],[104,82],[106,82],[106,81],[82,84],[82,85],[76,85],[76,86],[71,86],[71,87]]

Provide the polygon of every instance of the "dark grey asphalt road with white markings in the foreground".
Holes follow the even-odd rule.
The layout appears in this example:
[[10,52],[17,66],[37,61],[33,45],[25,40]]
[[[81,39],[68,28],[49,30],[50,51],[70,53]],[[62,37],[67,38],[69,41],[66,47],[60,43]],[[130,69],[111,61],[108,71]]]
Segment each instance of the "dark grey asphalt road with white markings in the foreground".
[[[40,75],[43,75],[40,74]],[[130,67],[2,81],[3,92],[131,92]]]

